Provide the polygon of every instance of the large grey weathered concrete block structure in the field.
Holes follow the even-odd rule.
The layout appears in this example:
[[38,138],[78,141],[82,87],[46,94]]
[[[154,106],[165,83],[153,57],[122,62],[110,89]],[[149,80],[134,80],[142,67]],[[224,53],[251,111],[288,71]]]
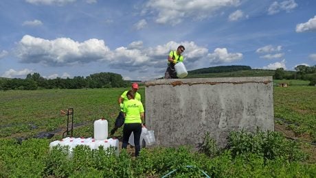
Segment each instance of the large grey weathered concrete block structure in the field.
[[198,147],[207,131],[225,147],[229,131],[274,130],[272,77],[146,82],[146,125],[158,145]]

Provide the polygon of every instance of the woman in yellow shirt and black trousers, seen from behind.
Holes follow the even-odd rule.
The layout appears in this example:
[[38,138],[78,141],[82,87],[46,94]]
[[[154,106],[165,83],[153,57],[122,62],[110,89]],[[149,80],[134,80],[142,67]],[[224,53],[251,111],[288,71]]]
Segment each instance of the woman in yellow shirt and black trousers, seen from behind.
[[140,151],[140,135],[142,127],[144,127],[144,106],[142,102],[135,99],[135,92],[129,90],[126,94],[128,101],[124,101],[123,114],[125,117],[123,127],[123,144],[122,149],[126,149],[131,133],[134,134],[135,156],[139,155]]

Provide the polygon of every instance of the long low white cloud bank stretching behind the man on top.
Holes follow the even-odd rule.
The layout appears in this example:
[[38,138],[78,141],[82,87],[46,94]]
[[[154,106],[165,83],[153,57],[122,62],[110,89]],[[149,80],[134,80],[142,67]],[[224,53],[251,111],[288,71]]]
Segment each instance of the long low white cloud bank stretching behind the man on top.
[[209,53],[205,47],[194,42],[174,42],[146,48],[142,41],[134,41],[127,47],[117,47],[110,50],[103,40],[89,39],[77,42],[70,38],[46,40],[33,36],[23,36],[15,52],[23,63],[37,63],[46,66],[64,66],[69,64],[87,64],[89,62],[103,62],[111,68],[126,71],[156,71],[166,70],[168,53],[176,50],[179,45],[185,47],[183,56],[187,68],[194,64],[229,63],[242,58],[241,53],[228,53],[226,48],[215,49]]

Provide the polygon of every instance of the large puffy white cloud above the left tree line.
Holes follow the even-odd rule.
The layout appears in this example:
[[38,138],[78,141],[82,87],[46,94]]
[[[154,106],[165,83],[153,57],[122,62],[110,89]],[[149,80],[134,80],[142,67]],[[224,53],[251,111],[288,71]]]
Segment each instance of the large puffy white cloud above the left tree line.
[[25,35],[20,40],[16,55],[25,63],[43,63],[61,66],[74,62],[87,63],[111,55],[103,40],[90,39],[76,42],[70,38],[45,40]]

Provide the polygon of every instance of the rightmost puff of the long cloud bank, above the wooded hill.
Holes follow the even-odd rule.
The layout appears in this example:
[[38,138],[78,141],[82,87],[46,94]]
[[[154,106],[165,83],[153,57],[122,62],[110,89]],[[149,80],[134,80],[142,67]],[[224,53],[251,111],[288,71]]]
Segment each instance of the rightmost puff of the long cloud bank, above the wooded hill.
[[234,62],[242,59],[242,53],[228,53],[226,48],[216,48],[214,53],[208,55],[212,64]]

